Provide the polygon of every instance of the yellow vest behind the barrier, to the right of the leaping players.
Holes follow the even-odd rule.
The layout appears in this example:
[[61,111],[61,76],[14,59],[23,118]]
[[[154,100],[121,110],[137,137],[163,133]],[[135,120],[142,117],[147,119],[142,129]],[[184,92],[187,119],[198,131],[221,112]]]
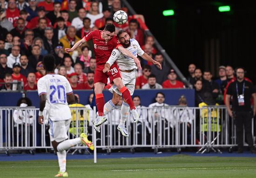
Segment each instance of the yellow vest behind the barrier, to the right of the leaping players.
[[[216,103],[215,106],[219,106],[218,103]],[[204,107],[204,108],[203,108]],[[203,128],[204,128],[204,132],[208,132],[209,131],[209,128],[208,128],[208,119],[211,119],[211,132],[221,132],[221,120],[220,120],[220,112],[221,110],[218,109],[217,107],[214,108],[214,110],[210,110],[207,108],[207,104],[205,102],[201,102],[199,104],[199,108],[203,108],[203,109],[200,109],[201,111],[201,132],[203,131]],[[211,112],[211,113],[209,113]],[[209,118],[210,117],[210,118]],[[203,120],[204,120],[204,123],[203,123]],[[219,120],[219,125],[217,124]]]

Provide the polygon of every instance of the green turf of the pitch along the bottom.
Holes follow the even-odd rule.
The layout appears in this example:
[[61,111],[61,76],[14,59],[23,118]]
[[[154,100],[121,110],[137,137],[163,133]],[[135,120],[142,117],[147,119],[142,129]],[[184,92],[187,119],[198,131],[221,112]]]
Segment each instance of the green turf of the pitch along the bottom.
[[[256,178],[256,158],[193,157],[67,160],[70,178]],[[0,178],[51,178],[57,160],[0,162]]]

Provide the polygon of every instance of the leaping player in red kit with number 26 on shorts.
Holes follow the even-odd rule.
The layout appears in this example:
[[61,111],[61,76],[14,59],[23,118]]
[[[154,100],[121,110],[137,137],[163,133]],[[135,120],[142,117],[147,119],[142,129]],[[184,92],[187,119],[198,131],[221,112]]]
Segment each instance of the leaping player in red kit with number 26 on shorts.
[[103,31],[100,30],[94,30],[90,33],[88,33],[84,38],[82,38],[80,41],[78,41],[74,46],[69,49],[66,48],[65,51],[73,52],[76,48],[80,47],[83,43],[93,40],[94,44],[94,53],[96,57],[96,69],[95,69],[95,75],[94,75],[94,92],[95,92],[95,98],[96,98],[96,107],[99,112],[99,117],[94,120],[94,128],[100,132],[99,127],[104,121],[107,120],[107,118],[104,116],[103,108],[104,108],[104,96],[102,94],[102,90],[104,89],[105,85],[108,82],[108,77],[110,79],[110,82],[114,82],[119,91],[121,91],[122,96],[127,101],[132,116],[134,118],[134,121],[138,121],[139,115],[137,113],[137,109],[134,106],[134,103],[132,101],[130,92],[128,89],[123,85],[121,81],[121,75],[119,68],[116,64],[116,62],[111,66],[109,69],[109,72],[103,73],[104,65],[108,61],[108,58],[110,57],[112,50],[114,48],[117,48],[121,53],[123,53],[125,56],[131,57],[134,59],[136,65],[139,69],[141,69],[140,61],[137,57],[132,55],[131,52],[126,50],[118,41],[118,38],[115,36],[115,25],[113,24],[107,24],[105,29]]

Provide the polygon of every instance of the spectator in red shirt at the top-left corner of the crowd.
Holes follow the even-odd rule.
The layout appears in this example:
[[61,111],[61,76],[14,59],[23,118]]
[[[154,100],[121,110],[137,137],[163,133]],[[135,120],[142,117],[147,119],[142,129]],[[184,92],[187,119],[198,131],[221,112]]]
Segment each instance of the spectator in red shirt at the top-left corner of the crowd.
[[14,24],[14,21],[16,19],[19,19],[20,16],[20,10],[17,8],[16,1],[15,0],[9,0],[8,1],[8,7],[6,10],[6,18],[9,22]]

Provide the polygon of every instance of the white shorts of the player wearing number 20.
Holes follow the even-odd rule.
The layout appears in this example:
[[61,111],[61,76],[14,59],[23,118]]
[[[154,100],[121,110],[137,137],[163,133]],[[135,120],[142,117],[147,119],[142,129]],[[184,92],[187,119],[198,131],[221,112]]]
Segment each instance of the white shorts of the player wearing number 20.
[[52,121],[49,119],[50,128],[49,128],[49,134],[50,134],[50,140],[51,141],[57,141],[61,142],[64,140],[67,140],[67,131],[69,129],[71,120],[63,120],[63,121]]

